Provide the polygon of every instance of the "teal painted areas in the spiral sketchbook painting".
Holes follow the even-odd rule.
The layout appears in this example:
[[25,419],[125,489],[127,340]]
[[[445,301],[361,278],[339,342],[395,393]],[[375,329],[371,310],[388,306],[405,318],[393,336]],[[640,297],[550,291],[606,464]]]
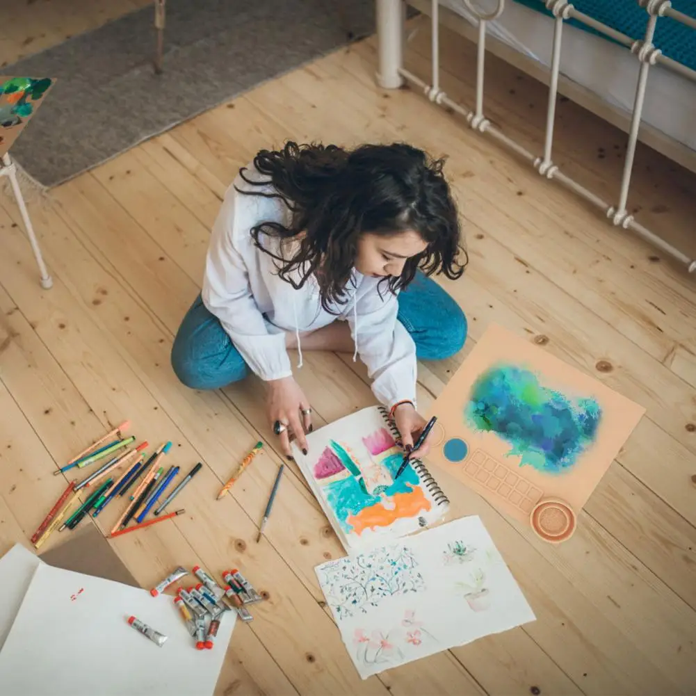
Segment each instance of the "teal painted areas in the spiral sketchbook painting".
[[[386,457],[382,465],[388,470],[392,478],[404,461],[404,455],[400,453],[391,454]],[[420,480],[411,465],[406,466],[406,470],[390,486],[383,489],[383,495],[390,497],[395,493],[410,493],[413,487],[418,486]],[[362,485],[361,485],[362,484]],[[371,496],[365,492],[362,479],[358,480],[354,476],[334,481],[324,487],[326,500],[335,512],[336,519],[341,525],[342,530],[350,533],[353,528],[348,522],[348,518],[358,514],[365,507],[372,507],[381,501],[380,496]]]

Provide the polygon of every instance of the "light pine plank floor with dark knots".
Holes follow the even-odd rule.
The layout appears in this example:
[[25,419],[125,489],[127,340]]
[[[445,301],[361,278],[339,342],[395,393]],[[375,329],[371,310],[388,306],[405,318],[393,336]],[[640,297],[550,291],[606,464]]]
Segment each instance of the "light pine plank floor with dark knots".
[[[420,74],[427,51],[427,32],[418,33],[409,65]],[[468,104],[472,56],[466,42],[443,37],[445,88]],[[268,593],[254,622],[235,628],[219,694],[696,693],[696,279],[421,95],[376,88],[375,60],[372,40],[354,45],[54,189],[51,205],[31,207],[52,290],[38,284],[17,209],[0,198],[0,553],[14,541],[29,546],[65,487],[56,466],[129,418],[139,438],[173,441],[171,463],[205,463],[180,497],[186,516],[111,542],[136,578],[149,587],[177,564],[239,564]],[[545,89],[496,61],[488,88],[490,116],[539,143]],[[556,159],[616,191],[625,136],[571,103],[559,113]],[[198,393],[169,366],[223,192],[256,150],[286,137],[404,139],[449,155],[471,262],[443,285],[466,311],[470,338],[452,361],[420,367],[424,409],[491,322],[647,408],[559,548],[438,473],[452,518],[482,516],[537,621],[367,681],[313,571],[342,548],[294,466],[267,539],[254,542],[282,460],[260,383]],[[633,206],[691,253],[695,193],[693,175],[640,150]],[[319,425],[372,403],[365,371],[349,358],[309,354],[297,379]],[[216,502],[259,438],[267,454]],[[108,512],[103,530],[118,510]],[[50,544],[62,541],[55,536]]]

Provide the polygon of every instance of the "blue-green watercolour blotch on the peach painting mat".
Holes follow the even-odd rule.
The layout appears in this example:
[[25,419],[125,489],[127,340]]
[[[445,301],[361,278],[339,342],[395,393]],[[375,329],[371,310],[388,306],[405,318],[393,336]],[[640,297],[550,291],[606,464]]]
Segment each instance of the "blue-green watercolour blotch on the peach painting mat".
[[602,410],[592,397],[571,399],[517,365],[499,364],[480,375],[464,409],[478,432],[509,443],[520,466],[544,473],[568,470],[594,443]]

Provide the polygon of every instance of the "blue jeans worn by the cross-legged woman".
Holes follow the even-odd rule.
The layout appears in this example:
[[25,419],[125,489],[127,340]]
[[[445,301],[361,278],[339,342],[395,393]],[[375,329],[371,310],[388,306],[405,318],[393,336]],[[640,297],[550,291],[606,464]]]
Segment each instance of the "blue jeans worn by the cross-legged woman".
[[[464,346],[464,312],[434,280],[419,273],[398,300],[398,319],[420,360],[443,360]],[[200,295],[177,331],[171,359],[177,377],[191,389],[219,389],[248,374],[244,358]]]

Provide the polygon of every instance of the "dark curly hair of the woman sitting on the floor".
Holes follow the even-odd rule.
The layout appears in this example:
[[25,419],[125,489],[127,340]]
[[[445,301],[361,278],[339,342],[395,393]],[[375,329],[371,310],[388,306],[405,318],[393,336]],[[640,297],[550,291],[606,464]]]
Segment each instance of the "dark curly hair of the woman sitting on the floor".
[[[252,228],[254,242],[273,256],[280,278],[296,289],[314,274],[325,310],[335,312],[332,304],[347,301],[364,232],[388,236],[414,230],[427,244],[423,253],[406,260],[401,276],[385,279],[392,292],[409,285],[418,268],[452,279],[464,272],[468,257],[464,251],[464,264],[459,264],[459,218],[443,160],[402,143],[345,150],[288,142],[282,150],[261,150],[253,164],[267,178],[250,179],[242,168],[242,179],[255,187],[271,184],[274,191],[239,192],[280,198],[292,211],[290,226],[263,222]],[[297,251],[290,258],[273,253],[264,248],[262,234],[279,238],[281,246],[286,240],[299,242]],[[298,270],[299,282],[290,278]]]

